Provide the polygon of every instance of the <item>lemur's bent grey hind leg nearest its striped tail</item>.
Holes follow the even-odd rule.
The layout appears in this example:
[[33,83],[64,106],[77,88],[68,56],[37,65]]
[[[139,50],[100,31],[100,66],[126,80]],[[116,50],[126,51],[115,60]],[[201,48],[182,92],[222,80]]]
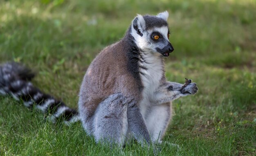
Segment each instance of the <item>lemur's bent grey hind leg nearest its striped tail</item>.
[[128,131],[126,98],[120,93],[108,96],[97,107],[93,123],[97,142],[123,145]]

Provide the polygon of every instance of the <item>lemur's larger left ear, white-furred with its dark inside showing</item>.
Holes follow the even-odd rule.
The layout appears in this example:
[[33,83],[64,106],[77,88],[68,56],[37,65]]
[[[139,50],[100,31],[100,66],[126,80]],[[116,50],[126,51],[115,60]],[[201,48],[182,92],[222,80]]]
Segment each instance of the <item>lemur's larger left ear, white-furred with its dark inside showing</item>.
[[140,36],[143,36],[143,32],[146,30],[146,22],[143,16],[137,14],[137,17],[132,21],[132,27]]

